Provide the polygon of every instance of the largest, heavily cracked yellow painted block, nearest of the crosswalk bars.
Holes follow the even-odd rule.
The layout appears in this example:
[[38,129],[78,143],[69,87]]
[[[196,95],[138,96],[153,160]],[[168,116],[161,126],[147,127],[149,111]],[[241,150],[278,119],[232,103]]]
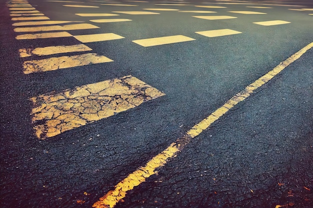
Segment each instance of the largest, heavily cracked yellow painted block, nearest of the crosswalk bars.
[[[53,137],[163,95],[130,75],[43,94],[30,98],[34,105],[31,111],[33,129],[39,139]],[[36,122],[41,124],[36,125]]]

